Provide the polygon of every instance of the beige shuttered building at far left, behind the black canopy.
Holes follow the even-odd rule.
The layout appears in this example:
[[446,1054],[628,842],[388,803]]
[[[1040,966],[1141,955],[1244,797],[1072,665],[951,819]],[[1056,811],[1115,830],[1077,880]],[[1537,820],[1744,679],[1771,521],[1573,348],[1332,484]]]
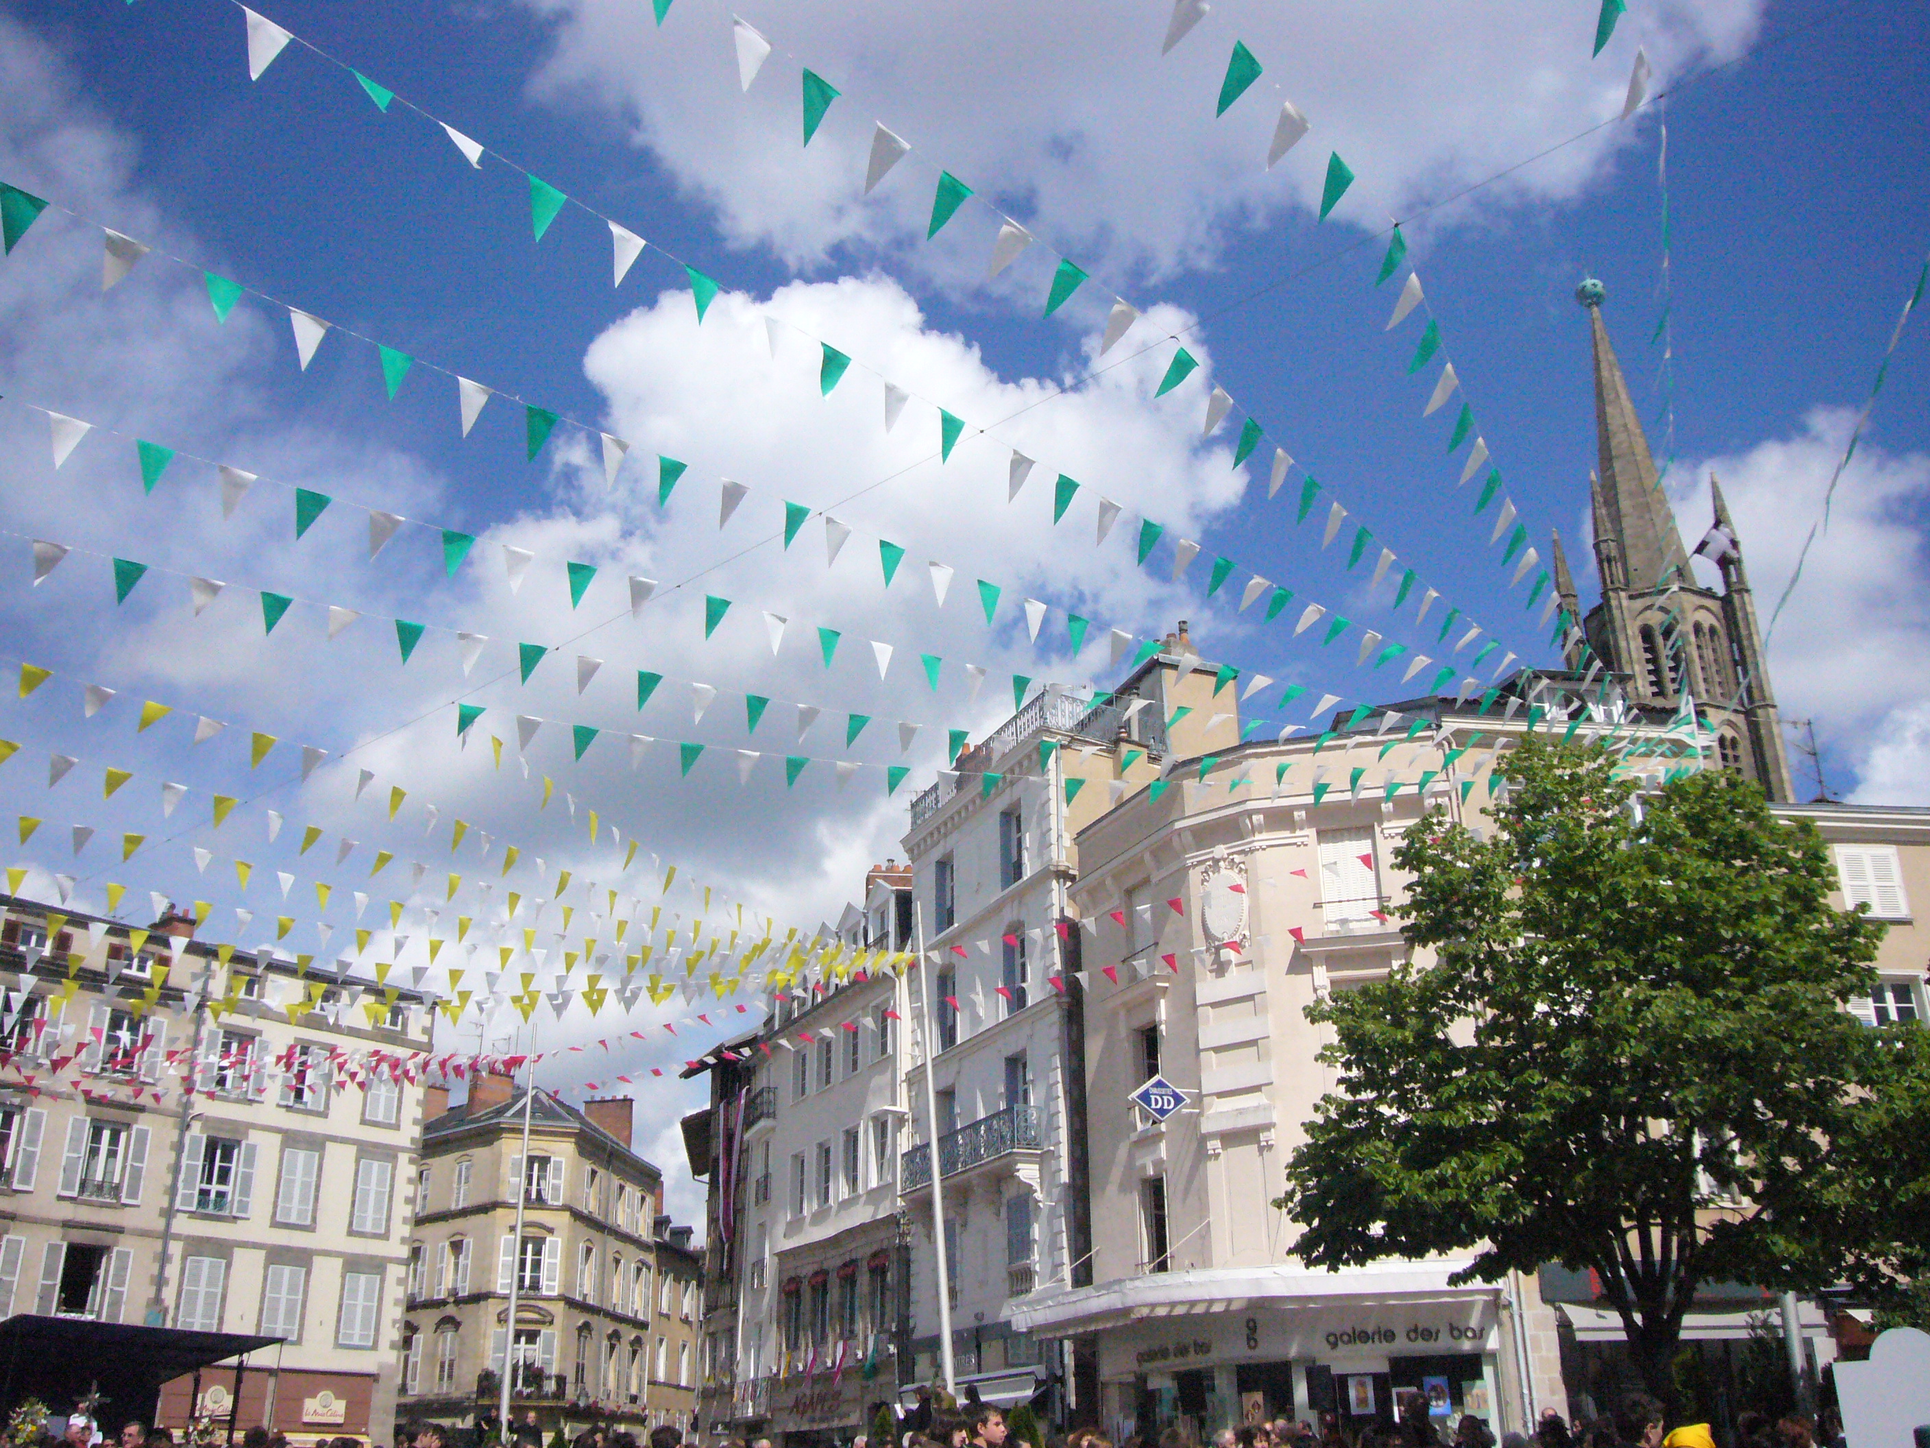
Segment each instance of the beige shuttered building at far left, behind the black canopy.
[[[386,1442],[428,1008],[218,952],[185,917],[54,917],[50,942],[14,900],[0,934],[0,1313],[280,1338],[239,1425]],[[212,1373],[201,1407],[232,1390]],[[185,1427],[189,1396],[168,1384],[158,1421]]]

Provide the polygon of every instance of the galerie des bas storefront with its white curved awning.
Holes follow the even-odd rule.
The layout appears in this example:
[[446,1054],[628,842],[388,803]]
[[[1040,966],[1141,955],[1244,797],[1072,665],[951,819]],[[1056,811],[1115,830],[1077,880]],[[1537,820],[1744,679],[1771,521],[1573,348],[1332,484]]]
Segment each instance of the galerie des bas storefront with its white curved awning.
[[1357,1433],[1392,1423],[1405,1392],[1428,1398],[1444,1436],[1463,1413],[1500,1436],[1498,1294],[1448,1288],[1446,1270],[1382,1274],[1374,1294],[1336,1292],[1347,1276],[1359,1282],[1278,1268],[1133,1278],[1027,1305],[1021,1324],[1092,1342],[1116,1440],[1166,1423],[1206,1440],[1239,1423],[1326,1411]]

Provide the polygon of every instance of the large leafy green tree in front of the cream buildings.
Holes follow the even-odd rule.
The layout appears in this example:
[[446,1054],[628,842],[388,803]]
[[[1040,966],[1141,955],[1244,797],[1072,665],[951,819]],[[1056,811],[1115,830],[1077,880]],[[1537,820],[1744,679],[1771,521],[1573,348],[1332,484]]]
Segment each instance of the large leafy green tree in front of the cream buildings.
[[1436,809],[1393,855],[1432,961],[1309,1008],[1339,1079],[1278,1205],[1318,1267],[1592,1270],[1673,1404],[1698,1284],[1884,1294],[1922,1270],[1924,1033],[1843,1010],[1882,927],[1830,905],[1816,830],[1754,784],[1639,795],[1602,749],[1532,736],[1500,770],[1486,838]]

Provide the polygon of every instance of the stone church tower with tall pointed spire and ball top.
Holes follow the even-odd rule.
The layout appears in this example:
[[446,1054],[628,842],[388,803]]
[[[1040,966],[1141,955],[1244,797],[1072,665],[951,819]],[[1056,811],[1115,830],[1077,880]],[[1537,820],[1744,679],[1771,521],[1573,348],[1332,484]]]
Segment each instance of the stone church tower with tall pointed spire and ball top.
[[[1583,668],[1586,651],[1623,676],[1629,701],[1646,710],[1677,710],[1695,699],[1716,730],[1723,766],[1756,780],[1770,799],[1793,799],[1776,695],[1762,660],[1756,602],[1743,571],[1743,550],[1710,479],[1716,521],[1696,552],[1722,570],[1722,593],[1704,589],[1689,568],[1675,512],[1662,494],[1648,438],[1629,384],[1602,324],[1602,284],[1575,290],[1594,334],[1594,429],[1598,471],[1588,479],[1594,510],[1594,562],[1602,602],[1581,612],[1561,539],[1550,554],[1556,597],[1569,620],[1563,653]],[[1581,620],[1577,629],[1573,624]]]

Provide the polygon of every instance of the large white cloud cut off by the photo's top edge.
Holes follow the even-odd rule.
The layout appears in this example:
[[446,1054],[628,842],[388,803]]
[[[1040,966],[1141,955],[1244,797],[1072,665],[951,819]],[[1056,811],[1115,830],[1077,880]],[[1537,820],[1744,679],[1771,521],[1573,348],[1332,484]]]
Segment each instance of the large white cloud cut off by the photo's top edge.
[[[814,2],[743,12],[778,52],[741,95],[724,10],[683,4],[656,29],[631,0],[525,4],[556,27],[537,93],[620,118],[739,245],[805,266],[886,249],[953,280],[982,276],[990,212],[969,209],[936,247],[923,243],[946,168],[1062,253],[1117,272],[1116,286],[1135,270],[1212,265],[1233,236],[1314,209],[1336,149],[1359,178],[1341,214],[1380,226],[1617,116],[1637,42],[1660,89],[1747,48],[1762,10],[1660,0],[1590,60],[1592,12],[1540,0],[1216,6],[1162,58],[1164,4]],[[1216,118],[1235,39],[1266,73]],[[845,93],[803,153],[801,66]],[[1314,129],[1268,172],[1283,98]],[[863,197],[874,120],[915,149]],[[1604,129],[1475,205],[1565,201],[1633,133]],[[1027,295],[1044,295],[1048,268],[1036,257],[1015,268]]]

